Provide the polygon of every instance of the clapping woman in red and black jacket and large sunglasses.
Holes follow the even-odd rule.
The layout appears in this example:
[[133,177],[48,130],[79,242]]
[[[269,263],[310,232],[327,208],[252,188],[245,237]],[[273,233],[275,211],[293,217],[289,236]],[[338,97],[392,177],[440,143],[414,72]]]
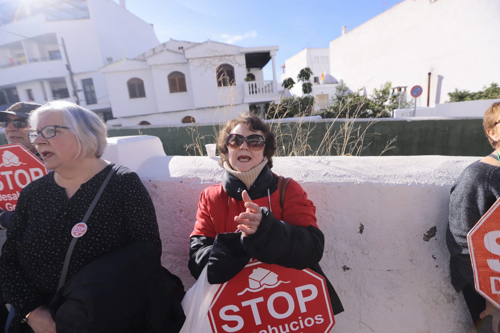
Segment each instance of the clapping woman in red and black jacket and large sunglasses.
[[[201,192],[190,235],[188,266],[194,278],[207,265],[209,283],[226,282],[252,257],[324,276],[318,264],[324,236],[314,204],[293,179],[280,204],[278,177],[271,172],[276,140],[269,126],[255,115],[241,114],[221,129],[217,148],[222,183]],[[325,279],[337,314],[342,304]]]

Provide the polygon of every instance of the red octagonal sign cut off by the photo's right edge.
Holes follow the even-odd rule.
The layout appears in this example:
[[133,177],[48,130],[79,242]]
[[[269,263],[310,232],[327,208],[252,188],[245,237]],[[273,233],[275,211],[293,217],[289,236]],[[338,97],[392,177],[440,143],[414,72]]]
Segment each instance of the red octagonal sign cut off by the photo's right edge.
[[500,198],[467,234],[477,292],[500,308]]

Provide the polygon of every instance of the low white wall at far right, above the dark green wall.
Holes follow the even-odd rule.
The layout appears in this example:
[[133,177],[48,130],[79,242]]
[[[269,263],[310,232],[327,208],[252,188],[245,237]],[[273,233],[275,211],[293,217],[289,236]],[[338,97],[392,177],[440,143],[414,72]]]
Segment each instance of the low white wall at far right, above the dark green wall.
[[482,118],[486,109],[500,99],[466,100],[461,102],[441,103],[430,107],[413,107],[395,109],[394,118],[405,117],[477,117]]

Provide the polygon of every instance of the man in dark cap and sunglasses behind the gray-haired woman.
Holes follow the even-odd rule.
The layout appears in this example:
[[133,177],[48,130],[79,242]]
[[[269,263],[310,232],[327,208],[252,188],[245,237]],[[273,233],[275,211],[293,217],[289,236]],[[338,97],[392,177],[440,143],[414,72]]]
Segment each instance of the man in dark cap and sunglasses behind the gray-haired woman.
[[[29,112],[40,107],[40,104],[31,102],[17,102],[10,105],[5,111],[0,111],[0,127],[5,130],[5,137],[9,144],[20,143],[26,149],[38,155],[35,146],[29,142],[28,132],[31,130],[28,124]],[[11,224],[13,211],[0,208],[0,228],[6,229]],[[5,241],[4,233],[0,235],[0,246]]]

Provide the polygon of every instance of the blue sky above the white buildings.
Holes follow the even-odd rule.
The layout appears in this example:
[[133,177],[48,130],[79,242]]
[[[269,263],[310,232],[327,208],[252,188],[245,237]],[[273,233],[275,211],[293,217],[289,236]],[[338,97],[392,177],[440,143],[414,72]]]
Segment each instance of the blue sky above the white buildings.
[[[115,0],[118,2],[118,0]],[[206,39],[238,46],[278,45],[276,77],[286,58],[305,47],[328,47],[341,34],[401,0],[126,0],[127,9],[152,23],[160,42]],[[264,78],[272,78],[271,62]]]

